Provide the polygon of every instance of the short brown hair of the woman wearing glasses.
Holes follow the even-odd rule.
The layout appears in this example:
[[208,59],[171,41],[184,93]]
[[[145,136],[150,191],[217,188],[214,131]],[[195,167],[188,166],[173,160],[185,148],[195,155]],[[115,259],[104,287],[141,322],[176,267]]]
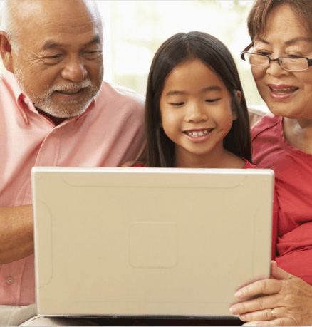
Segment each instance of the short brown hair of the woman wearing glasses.
[[251,40],[266,32],[266,21],[271,11],[277,6],[288,4],[299,21],[309,33],[312,33],[311,0],[256,0],[248,16],[247,26]]

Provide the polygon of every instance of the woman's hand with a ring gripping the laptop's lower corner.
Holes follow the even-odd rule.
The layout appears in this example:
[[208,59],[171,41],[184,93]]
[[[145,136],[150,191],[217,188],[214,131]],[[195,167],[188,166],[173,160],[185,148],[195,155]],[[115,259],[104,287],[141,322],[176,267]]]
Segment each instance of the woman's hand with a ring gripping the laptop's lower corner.
[[275,261],[271,261],[271,276],[275,279],[256,281],[236,291],[241,302],[230,311],[248,321],[243,326],[311,326],[312,286],[278,268]]

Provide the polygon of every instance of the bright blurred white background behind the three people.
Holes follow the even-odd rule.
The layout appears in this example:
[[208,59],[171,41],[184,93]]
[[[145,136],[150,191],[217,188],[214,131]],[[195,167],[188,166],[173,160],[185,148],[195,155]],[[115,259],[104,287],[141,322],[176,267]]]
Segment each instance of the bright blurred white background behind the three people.
[[145,95],[150,64],[160,44],[175,33],[204,31],[219,38],[232,52],[249,106],[264,105],[250,66],[240,58],[250,43],[246,19],[253,0],[97,2],[105,21],[105,81]]

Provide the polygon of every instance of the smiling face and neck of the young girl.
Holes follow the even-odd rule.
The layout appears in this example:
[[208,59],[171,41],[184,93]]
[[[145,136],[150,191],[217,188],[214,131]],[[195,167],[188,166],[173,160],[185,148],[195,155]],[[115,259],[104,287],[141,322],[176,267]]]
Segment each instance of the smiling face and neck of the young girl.
[[199,59],[177,66],[167,76],[160,113],[162,128],[175,143],[178,167],[194,166],[197,160],[217,161],[225,152],[223,139],[236,119],[229,91]]

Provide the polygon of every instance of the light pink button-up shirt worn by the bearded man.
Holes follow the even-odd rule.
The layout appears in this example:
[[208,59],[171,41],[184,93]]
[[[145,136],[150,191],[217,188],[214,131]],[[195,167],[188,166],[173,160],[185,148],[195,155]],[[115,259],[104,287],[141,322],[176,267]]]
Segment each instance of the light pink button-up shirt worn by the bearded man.
[[[39,114],[13,74],[0,76],[0,207],[31,204],[31,167],[118,166],[135,159],[144,98],[103,83],[78,118],[58,126]],[[0,265],[0,304],[35,303],[33,255]]]

